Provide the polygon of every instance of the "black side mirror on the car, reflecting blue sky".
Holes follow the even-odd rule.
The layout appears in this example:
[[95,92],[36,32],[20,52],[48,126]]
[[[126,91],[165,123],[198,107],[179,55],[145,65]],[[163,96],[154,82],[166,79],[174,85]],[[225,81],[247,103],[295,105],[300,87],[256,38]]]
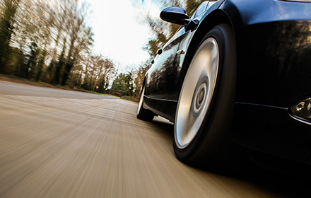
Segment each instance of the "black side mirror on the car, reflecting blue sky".
[[184,25],[188,23],[187,20],[189,19],[189,16],[187,16],[184,8],[169,7],[161,11],[160,18],[162,18],[163,21]]

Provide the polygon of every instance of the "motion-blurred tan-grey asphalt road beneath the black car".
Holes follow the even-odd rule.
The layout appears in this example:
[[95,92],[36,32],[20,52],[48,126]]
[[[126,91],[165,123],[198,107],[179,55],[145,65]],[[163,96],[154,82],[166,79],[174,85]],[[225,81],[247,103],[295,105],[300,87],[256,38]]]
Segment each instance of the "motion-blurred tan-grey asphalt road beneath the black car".
[[[0,197],[303,197],[266,171],[218,175],[180,163],[172,124],[119,98],[0,81]],[[308,194],[310,196],[310,194]]]

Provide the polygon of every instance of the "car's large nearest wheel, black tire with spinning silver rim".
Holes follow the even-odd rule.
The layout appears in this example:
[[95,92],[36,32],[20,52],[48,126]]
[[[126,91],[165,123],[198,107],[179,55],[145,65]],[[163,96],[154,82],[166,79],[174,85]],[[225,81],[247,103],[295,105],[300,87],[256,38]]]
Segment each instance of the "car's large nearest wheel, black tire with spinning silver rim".
[[233,30],[217,25],[201,40],[180,91],[173,143],[180,161],[213,170],[230,169],[235,84]]

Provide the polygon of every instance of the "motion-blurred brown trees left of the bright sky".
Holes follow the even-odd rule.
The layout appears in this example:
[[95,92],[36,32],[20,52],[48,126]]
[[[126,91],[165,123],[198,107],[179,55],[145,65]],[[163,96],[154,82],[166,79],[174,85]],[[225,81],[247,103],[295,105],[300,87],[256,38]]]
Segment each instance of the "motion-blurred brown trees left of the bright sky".
[[1,0],[0,73],[104,92],[115,75],[93,54],[88,4],[76,0]]

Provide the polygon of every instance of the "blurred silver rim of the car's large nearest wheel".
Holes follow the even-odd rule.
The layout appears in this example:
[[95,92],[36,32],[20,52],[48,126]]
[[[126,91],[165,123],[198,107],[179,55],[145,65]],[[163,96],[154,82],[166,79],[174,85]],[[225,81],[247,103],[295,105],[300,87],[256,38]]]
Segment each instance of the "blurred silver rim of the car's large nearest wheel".
[[174,130],[178,148],[187,147],[204,122],[215,90],[218,64],[218,45],[209,37],[196,51],[182,84]]

